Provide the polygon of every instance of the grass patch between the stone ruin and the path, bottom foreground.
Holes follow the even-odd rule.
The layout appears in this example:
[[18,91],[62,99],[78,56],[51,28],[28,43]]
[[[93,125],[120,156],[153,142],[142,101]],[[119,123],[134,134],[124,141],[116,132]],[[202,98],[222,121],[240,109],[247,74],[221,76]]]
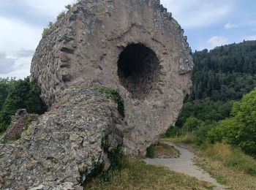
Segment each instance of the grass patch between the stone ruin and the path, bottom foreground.
[[165,167],[148,165],[135,158],[126,160],[124,170],[112,180],[105,182],[101,178],[95,178],[84,189],[212,189],[210,183]]

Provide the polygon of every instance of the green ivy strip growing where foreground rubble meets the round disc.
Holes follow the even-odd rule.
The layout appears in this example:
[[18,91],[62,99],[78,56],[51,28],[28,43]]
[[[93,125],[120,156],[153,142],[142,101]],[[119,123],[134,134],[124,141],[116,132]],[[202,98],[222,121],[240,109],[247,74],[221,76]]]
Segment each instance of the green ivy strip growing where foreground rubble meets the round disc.
[[104,86],[97,86],[97,91],[112,99],[118,105],[118,112],[124,118],[124,100],[117,90],[106,88]]

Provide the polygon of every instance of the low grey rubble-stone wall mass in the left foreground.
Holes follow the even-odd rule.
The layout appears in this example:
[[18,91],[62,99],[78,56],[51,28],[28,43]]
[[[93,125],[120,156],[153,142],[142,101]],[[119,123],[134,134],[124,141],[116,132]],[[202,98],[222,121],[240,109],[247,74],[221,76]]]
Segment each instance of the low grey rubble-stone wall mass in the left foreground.
[[64,90],[20,140],[0,144],[0,189],[82,189],[81,174],[108,161],[102,138],[115,148],[122,143],[122,125],[116,103],[99,92]]

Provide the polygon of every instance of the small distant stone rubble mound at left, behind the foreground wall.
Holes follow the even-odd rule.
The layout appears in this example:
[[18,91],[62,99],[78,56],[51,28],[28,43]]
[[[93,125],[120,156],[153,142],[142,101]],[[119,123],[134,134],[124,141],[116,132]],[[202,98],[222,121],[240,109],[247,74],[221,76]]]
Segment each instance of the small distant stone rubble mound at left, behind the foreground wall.
[[37,121],[39,115],[26,113],[26,110],[18,110],[15,115],[12,115],[12,122],[6,132],[4,132],[4,140],[15,140],[20,137],[20,134],[28,128],[29,124]]

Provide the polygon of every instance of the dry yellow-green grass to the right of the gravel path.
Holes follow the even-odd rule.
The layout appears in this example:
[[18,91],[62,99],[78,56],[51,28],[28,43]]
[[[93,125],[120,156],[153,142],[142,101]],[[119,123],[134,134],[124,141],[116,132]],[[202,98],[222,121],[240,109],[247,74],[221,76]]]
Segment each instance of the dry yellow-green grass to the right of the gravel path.
[[196,164],[232,189],[256,189],[256,160],[225,143],[196,148]]

